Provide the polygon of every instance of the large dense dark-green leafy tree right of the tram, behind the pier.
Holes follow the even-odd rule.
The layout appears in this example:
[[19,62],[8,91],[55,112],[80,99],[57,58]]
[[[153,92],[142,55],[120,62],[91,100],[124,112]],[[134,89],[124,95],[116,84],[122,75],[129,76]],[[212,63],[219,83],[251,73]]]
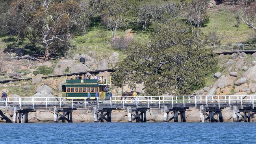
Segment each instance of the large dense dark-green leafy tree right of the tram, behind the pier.
[[152,95],[190,94],[215,69],[215,55],[204,48],[204,37],[195,37],[180,21],[154,27],[155,40],[134,43],[116,66],[116,85],[144,83],[145,92]]

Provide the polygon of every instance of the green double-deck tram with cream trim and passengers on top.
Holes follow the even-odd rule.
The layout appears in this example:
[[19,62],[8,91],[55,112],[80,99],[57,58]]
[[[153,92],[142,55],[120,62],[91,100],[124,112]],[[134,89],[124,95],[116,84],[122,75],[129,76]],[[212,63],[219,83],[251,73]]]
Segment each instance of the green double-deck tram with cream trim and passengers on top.
[[[85,97],[88,97],[89,92],[92,98],[87,98],[86,100],[88,100],[88,102],[95,101],[95,94],[98,92],[99,100],[109,100],[110,98],[106,97],[109,96],[110,87],[111,76],[89,76],[85,78],[83,78],[83,76],[66,77],[62,83],[62,99],[84,101]],[[81,97],[81,99],[78,97]]]

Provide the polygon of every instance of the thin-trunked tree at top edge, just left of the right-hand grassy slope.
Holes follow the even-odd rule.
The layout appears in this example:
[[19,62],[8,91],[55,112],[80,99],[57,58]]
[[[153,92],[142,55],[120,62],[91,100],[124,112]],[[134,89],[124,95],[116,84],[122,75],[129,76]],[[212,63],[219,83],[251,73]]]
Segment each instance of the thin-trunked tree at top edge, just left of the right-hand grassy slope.
[[186,11],[184,11],[184,16],[187,22],[191,25],[191,30],[197,28],[196,35],[199,35],[199,30],[202,24],[207,20],[208,15],[206,7],[208,6],[209,0],[193,0],[191,3],[187,4]]

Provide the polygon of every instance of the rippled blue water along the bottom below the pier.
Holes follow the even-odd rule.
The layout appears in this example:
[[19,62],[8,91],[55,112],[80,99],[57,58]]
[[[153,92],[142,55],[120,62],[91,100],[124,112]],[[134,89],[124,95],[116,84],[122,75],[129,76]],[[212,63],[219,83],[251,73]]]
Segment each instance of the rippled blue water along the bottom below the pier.
[[0,128],[0,144],[256,143],[256,123],[29,123]]

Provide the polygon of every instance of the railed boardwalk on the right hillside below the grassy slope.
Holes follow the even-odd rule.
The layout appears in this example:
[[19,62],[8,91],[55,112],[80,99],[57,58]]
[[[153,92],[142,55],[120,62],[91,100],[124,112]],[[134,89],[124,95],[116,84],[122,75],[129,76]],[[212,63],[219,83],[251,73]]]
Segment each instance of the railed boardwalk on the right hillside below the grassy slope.
[[256,44],[228,44],[221,46],[209,47],[213,49],[216,54],[230,53],[230,52],[256,52]]

